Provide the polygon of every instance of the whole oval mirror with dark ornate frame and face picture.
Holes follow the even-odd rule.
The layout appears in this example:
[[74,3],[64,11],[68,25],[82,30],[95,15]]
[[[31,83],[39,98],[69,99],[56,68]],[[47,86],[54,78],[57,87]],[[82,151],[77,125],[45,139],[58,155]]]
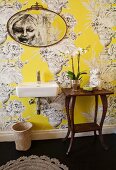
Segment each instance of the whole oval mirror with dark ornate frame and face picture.
[[38,4],[13,15],[7,29],[14,40],[33,47],[54,45],[67,32],[66,22],[60,15]]

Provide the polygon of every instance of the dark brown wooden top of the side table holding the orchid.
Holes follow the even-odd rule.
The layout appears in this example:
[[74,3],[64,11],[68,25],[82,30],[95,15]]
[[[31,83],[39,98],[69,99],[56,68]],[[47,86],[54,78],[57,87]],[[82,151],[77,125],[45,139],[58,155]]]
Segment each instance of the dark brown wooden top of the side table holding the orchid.
[[106,89],[102,90],[93,90],[93,91],[86,91],[82,88],[74,91],[72,88],[62,88],[62,92],[65,94],[65,96],[97,96],[97,95],[110,95],[114,94],[113,91],[109,91]]

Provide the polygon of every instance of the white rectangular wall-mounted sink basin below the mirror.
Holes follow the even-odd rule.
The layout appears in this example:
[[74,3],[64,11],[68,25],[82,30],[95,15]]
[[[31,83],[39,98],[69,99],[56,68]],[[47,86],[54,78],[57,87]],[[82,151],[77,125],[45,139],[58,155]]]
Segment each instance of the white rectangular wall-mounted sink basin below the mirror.
[[56,82],[25,82],[16,87],[18,97],[52,97],[58,94]]

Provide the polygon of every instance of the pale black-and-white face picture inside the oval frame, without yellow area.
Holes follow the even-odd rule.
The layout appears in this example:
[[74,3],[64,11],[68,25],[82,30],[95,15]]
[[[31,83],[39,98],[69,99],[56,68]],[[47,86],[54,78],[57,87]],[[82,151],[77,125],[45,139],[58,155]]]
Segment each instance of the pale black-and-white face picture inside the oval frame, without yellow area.
[[49,46],[62,38],[59,36],[61,30],[53,26],[56,16],[44,10],[40,14],[19,12],[8,21],[8,32],[24,45]]

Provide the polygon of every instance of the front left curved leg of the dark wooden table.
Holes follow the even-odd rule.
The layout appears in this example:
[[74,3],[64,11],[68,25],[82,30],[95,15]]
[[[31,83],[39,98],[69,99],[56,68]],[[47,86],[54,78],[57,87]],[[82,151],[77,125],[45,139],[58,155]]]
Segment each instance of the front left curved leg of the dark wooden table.
[[74,106],[75,106],[75,101],[76,101],[76,96],[72,96],[71,97],[71,106],[70,106],[70,131],[71,131],[71,139],[70,139],[70,144],[68,147],[68,151],[67,151],[67,155],[69,154],[71,148],[72,148],[72,144],[73,144],[73,140],[74,140],[74,134],[75,134],[75,130],[74,130]]

